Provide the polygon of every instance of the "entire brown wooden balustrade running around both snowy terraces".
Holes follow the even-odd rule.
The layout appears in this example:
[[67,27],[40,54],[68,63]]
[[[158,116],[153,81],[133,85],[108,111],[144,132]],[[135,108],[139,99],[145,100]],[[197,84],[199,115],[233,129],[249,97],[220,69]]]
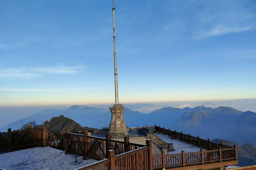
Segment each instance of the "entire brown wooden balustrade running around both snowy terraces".
[[[185,153],[174,155],[162,155],[152,157],[151,140],[147,140],[147,145],[131,143],[129,137],[125,137],[124,141],[110,139],[110,135],[105,138],[93,137],[84,134],[65,133],[53,134],[45,129],[45,126],[38,126],[37,129],[26,131],[14,131],[0,133],[0,151],[13,150],[24,147],[33,146],[59,146],[61,145],[65,153],[74,153],[87,158],[101,160],[95,164],[80,168],[81,170],[96,169],[159,169],[159,168],[176,168],[187,167],[193,165],[208,165],[212,163],[232,162],[237,163],[237,147],[234,148],[223,145],[223,143],[211,142],[211,140],[203,140],[199,137],[193,137],[190,134],[171,131],[155,126],[155,131],[169,135],[193,145],[208,149],[199,152]],[[65,137],[66,139],[64,140]],[[73,140],[78,139],[79,142]],[[61,139],[61,140],[60,140]],[[62,141],[62,144],[60,143]],[[64,142],[65,141],[65,142]],[[65,146],[65,147],[64,147]],[[223,164],[224,165],[224,164]],[[226,164],[225,164],[226,165]]]

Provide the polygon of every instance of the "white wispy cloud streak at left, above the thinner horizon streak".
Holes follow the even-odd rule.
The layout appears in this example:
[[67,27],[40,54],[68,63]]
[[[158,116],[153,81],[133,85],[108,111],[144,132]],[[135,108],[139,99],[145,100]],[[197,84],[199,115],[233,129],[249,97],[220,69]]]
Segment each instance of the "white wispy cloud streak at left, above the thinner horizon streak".
[[55,67],[6,67],[0,69],[0,80],[31,79],[41,77],[43,74],[72,74],[82,71],[85,66],[55,66]]

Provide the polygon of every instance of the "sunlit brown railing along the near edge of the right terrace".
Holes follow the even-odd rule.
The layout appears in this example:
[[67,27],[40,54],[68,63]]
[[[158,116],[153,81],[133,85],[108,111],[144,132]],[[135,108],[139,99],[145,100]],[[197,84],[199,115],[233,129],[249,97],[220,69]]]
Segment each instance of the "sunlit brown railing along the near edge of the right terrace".
[[220,163],[224,161],[237,160],[237,147],[229,149],[209,150],[200,152],[162,155],[153,157],[153,168],[177,168],[191,165],[204,165],[207,163]]

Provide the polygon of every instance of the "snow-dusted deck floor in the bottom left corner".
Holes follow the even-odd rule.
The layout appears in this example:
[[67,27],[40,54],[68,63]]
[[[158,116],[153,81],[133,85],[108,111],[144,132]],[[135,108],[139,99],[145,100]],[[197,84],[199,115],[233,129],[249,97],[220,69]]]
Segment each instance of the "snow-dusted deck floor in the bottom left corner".
[[75,163],[73,154],[66,155],[64,151],[50,147],[37,147],[0,154],[0,169],[75,169],[97,162],[97,160],[82,158],[77,155],[77,162],[80,163],[78,164]]

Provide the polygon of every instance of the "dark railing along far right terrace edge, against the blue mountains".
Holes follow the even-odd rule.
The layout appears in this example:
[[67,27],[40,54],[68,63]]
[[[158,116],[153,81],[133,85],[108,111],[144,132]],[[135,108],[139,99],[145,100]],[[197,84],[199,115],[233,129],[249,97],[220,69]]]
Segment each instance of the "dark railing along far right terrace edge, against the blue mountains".
[[232,148],[232,147],[223,145],[223,142],[220,142],[220,143],[212,142],[210,139],[208,140],[201,139],[199,136],[193,137],[190,135],[190,133],[184,134],[183,132],[177,132],[176,130],[172,131],[170,129],[161,128],[160,126],[156,126],[156,125],[155,125],[155,132],[169,135],[172,139],[179,139],[183,142],[187,142],[189,144],[192,144],[207,150],[218,150],[219,148],[222,148],[222,149]]

